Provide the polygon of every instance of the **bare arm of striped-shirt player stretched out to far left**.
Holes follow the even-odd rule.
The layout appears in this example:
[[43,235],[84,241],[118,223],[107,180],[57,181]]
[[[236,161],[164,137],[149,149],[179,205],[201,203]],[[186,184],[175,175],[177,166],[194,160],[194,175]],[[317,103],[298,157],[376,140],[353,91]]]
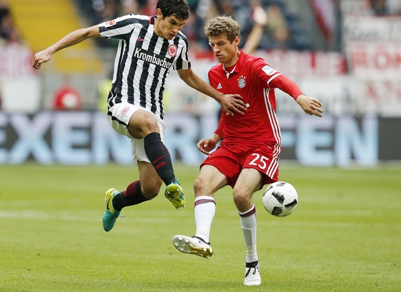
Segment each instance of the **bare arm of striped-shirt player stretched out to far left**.
[[74,30],[74,32],[70,32],[69,34],[64,36],[63,39],[54,43],[54,45],[50,45],[49,48],[34,54],[34,57],[32,59],[32,67],[39,70],[41,68],[41,64],[52,59],[52,55],[55,52],[59,52],[59,50],[68,48],[72,45],[76,45],[77,43],[81,43],[81,41],[85,41],[85,39],[99,36],[99,25],[93,25],[90,28],[81,28],[79,30]]

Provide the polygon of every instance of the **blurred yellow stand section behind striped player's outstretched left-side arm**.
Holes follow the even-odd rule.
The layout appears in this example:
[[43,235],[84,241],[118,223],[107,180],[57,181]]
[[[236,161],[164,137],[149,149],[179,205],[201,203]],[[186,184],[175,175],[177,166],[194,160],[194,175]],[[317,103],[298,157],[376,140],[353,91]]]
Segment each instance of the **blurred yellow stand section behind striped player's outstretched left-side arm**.
[[[69,0],[13,0],[9,6],[17,28],[33,52],[47,48],[55,40],[84,25],[74,3]],[[83,42],[74,49],[55,55],[52,70],[65,73],[101,70],[101,62],[96,58],[92,42]],[[88,58],[83,59],[83,55]]]

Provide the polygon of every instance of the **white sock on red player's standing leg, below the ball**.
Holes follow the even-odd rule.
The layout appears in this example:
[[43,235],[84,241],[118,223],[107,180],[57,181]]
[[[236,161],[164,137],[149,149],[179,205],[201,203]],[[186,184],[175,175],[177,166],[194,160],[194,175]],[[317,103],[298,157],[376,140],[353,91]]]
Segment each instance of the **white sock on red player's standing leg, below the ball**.
[[240,215],[241,227],[243,227],[245,246],[247,247],[245,262],[256,262],[258,260],[258,253],[256,252],[257,220],[255,205],[248,211],[238,213]]

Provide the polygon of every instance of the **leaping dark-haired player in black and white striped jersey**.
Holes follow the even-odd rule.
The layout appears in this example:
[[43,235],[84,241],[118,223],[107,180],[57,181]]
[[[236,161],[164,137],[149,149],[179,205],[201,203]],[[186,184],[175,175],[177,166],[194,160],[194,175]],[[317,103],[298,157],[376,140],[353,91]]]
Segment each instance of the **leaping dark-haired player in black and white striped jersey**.
[[156,16],[128,14],[75,30],[35,54],[32,60],[32,67],[39,70],[52,54],[85,39],[119,39],[107,115],[113,129],[132,140],[132,159],[138,165],[139,180],[130,183],[125,191],[106,191],[105,231],[114,227],[123,207],[155,198],[163,182],[166,198],[176,209],[185,207],[183,189],[163,143],[163,92],[171,68],[187,85],[218,101],[225,112],[234,115],[246,111],[241,96],[218,92],[192,71],[188,41],[180,32],[188,17],[186,0],[159,0]]

